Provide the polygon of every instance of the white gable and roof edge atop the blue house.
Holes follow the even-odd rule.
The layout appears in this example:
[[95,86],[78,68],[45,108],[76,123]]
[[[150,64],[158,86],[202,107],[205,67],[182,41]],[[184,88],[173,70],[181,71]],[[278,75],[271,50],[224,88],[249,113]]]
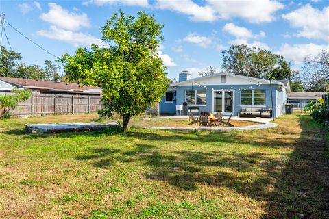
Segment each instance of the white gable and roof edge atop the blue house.
[[[207,75],[207,76],[204,76],[204,77],[196,77],[196,78],[193,78],[193,79],[188,79],[186,81],[181,81],[181,82],[178,82],[178,83],[172,83],[171,86],[184,86],[184,85],[190,85],[192,83],[192,81],[204,81],[204,85],[216,85],[217,84],[220,84],[220,79],[219,81],[215,80],[214,77],[219,77],[221,75],[226,75],[228,77],[234,77],[234,83],[233,81],[228,81],[226,82],[226,84],[241,84],[241,83],[270,83],[269,80],[267,79],[260,79],[260,78],[256,78],[256,77],[247,77],[247,76],[243,76],[243,75],[235,75],[235,74],[232,74],[232,73],[215,73],[213,75]],[[287,88],[285,86],[284,83],[282,83],[282,81],[271,81],[272,84],[277,84],[277,85],[281,85],[283,86],[284,88]]]

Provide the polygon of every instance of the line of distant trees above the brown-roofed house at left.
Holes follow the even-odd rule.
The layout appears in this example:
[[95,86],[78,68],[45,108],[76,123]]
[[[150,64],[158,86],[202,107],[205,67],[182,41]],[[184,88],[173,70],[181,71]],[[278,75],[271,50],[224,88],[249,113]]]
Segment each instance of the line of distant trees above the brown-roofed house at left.
[[51,60],[45,60],[45,67],[38,65],[27,65],[22,62],[21,53],[1,47],[0,55],[0,76],[1,77],[22,77],[45,81],[64,81],[64,76],[58,73],[60,65],[54,64]]

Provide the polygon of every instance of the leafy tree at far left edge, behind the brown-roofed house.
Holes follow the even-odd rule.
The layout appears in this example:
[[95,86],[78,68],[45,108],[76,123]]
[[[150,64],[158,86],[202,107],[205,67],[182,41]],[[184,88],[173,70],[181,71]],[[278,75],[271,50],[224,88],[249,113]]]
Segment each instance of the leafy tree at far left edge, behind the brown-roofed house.
[[5,47],[1,47],[0,76],[14,77],[16,67],[18,66],[17,60],[21,59],[21,53],[16,53],[15,51],[7,50]]

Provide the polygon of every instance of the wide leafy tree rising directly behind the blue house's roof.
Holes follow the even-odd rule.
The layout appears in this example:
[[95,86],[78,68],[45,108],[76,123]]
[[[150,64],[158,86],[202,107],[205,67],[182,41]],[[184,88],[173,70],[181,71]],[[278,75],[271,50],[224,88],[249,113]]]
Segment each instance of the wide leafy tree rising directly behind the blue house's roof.
[[222,53],[222,68],[227,73],[276,80],[289,79],[291,75],[289,64],[271,51],[237,44]]

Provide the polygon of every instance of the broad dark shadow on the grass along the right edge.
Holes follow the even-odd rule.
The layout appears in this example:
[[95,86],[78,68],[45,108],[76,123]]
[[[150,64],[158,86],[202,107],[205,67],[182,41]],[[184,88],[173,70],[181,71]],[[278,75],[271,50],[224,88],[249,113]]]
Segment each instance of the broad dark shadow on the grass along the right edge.
[[329,142],[309,116],[289,161],[278,177],[263,218],[329,218]]

